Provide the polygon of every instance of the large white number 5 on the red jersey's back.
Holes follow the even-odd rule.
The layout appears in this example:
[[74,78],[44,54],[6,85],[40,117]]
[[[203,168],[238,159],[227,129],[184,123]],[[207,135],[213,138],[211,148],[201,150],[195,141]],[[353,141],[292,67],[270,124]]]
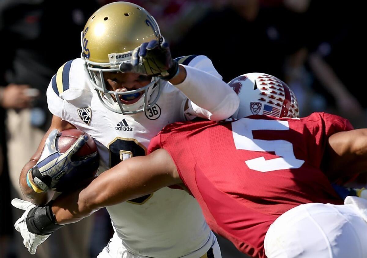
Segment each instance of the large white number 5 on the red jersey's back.
[[296,169],[305,162],[296,159],[293,144],[286,140],[254,139],[254,130],[289,130],[288,121],[242,118],[232,123],[232,135],[237,150],[273,151],[280,158],[265,160],[264,156],[245,161],[246,165],[259,172],[281,169]]

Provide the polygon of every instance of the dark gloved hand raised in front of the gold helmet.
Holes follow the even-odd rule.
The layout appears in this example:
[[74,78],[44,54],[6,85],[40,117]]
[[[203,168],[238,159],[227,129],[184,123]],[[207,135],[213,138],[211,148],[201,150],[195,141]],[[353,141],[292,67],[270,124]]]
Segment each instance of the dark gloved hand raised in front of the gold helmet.
[[171,80],[178,72],[178,63],[172,59],[167,42],[157,40],[142,43],[132,52],[131,63],[121,63],[123,73],[153,75],[163,80]]

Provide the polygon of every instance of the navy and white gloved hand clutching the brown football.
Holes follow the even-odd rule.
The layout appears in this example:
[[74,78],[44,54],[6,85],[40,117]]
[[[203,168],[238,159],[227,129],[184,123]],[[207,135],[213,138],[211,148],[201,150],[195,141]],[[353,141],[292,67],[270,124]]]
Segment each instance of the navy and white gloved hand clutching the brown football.
[[[54,129],[48,135],[40,160],[29,172],[35,185],[30,182],[29,178],[27,178],[27,182],[29,182],[35,192],[43,192],[48,188],[55,190],[58,181],[63,176],[71,172],[75,167],[93,160],[93,157],[84,160],[73,160],[73,155],[87,142],[88,136],[79,136],[66,152],[60,153],[55,146],[57,134],[58,130]],[[27,174],[28,176],[29,174]]]

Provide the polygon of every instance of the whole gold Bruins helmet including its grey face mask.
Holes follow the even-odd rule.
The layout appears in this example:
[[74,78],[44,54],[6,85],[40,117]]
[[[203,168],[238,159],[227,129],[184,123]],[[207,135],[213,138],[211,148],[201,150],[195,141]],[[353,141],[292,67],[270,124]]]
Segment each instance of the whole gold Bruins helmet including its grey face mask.
[[[156,20],[144,8],[127,2],[114,2],[99,8],[88,19],[81,32],[81,58],[84,59],[88,78],[103,106],[121,114],[136,114],[153,106],[160,95],[157,77],[140,88],[125,92],[106,88],[103,72],[120,72],[119,65],[131,62],[132,51],[144,42],[163,37]],[[119,95],[136,96],[134,104],[121,103]]]

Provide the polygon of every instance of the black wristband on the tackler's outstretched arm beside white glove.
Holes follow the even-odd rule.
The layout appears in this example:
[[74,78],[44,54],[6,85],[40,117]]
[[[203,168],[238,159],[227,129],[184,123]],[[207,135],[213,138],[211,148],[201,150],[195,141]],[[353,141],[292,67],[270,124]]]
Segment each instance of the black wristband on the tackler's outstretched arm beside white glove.
[[45,207],[34,207],[27,215],[28,231],[37,235],[48,235],[64,225],[56,223],[55,214],[51,209],[52,202]]

